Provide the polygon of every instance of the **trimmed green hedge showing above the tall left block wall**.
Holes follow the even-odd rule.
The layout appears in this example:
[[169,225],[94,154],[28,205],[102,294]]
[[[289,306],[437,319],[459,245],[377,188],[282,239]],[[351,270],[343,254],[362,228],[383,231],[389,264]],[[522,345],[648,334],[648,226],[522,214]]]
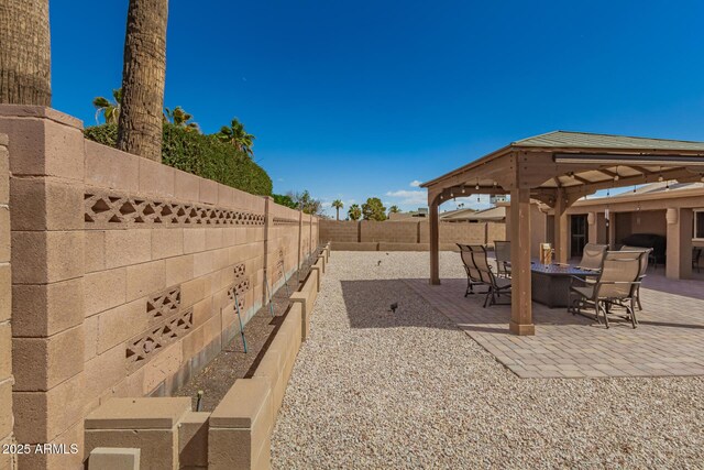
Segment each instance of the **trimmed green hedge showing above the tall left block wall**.
[[[87,139],[110,146],[116,146],[118,140],[116,124],[95,125],[84,133]],[[251,194],[272,194],[272,178],[266,172],[244,152],[220,142],[215,135],[165,123],[162,163]]]

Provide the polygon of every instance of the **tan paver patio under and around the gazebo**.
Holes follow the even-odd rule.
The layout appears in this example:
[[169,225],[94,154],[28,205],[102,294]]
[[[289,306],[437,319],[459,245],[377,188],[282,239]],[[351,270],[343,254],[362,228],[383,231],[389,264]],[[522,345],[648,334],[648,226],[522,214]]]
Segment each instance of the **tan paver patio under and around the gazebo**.
[[[697,277],[701,277],[697,276]],[[509,305],[483,308],[464,297],[464,278],[406,283],[520,378],[704,375],[704,282],[651,272],[641,289],[640,325],[603,325],[534,303],[536,336],[507,330]]]

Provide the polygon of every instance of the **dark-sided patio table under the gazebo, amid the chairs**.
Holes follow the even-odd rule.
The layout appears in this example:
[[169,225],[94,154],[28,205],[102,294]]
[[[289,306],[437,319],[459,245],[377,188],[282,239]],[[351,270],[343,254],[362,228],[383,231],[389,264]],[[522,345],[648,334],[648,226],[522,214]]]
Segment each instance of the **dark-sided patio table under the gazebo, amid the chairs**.
[[530,262],[530,285],[534,302],[549,308],[566,307],[570,303],[570,278],[598,276],[598,271],[585,270],[570,264],[542,264]]

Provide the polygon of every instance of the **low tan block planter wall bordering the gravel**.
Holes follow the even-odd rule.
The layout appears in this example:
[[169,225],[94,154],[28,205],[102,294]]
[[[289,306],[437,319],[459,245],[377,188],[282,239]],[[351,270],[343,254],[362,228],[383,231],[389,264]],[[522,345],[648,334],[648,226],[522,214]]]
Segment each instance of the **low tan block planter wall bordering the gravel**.
[[[148,469],[266,469],[271,466],[271,436],[294,370],[310,309],[326,271],[326,247],[296,294],[252,378],[238,379],[212,413],[193,412],[183,397],[116,398],[85,419],[88,469],[102,469],[105,449],[139,456]],[[304,309],[308,309],[308,319]],[[112,456],[114,459],[114,456]],[[94,460],[96,467],[94,467]]]

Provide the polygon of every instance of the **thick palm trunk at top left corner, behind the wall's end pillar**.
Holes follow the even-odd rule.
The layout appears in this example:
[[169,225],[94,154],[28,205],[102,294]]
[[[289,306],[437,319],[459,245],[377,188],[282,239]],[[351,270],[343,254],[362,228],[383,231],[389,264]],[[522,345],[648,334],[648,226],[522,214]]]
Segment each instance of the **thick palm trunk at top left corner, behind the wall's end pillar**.
[[0,0],[0,103],[52,106],[48,0]]

